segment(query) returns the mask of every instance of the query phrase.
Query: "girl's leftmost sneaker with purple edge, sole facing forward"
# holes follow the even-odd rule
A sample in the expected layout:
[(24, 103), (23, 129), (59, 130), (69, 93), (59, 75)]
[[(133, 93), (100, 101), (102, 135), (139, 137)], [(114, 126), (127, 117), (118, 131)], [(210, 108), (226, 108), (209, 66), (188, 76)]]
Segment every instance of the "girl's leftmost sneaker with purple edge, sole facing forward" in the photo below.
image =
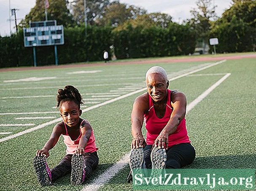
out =
[(46, 158), (35, 157), (33, 165), (35, 169), (35, 174), (41, 186), (51, 185), (51, 170), (47, 165)]

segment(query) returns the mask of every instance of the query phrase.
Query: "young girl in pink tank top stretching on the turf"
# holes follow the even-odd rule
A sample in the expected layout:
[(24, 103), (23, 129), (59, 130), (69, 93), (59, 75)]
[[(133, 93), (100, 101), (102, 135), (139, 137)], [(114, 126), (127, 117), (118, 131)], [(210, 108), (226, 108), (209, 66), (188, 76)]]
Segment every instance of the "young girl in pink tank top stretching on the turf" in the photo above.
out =
[[(80, 118), (82, 114), (80, 104), (83, 102), (78, 89), (73, 86), (59, 89), (57, 102), (63, 121), (53, 128), (50, 139), (36, 152), (35, 173), (41, 186), (51, 185), (52, 181), (70, 172), (71, 184), (80, 185), (91, 175), (99, 162), (95, 137), (90, 123)], [(49, 150), (55, 146), (61, 135), (67, 146), (67, 155), (59, 165), (50, 170), (46, 158), (49, 157)]]

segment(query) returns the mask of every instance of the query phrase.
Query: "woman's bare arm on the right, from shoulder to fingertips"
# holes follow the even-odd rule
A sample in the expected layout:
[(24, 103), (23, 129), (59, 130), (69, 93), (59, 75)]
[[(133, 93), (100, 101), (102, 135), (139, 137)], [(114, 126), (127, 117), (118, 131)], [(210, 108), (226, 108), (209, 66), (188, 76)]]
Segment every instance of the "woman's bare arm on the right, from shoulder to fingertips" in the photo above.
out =
[(181, 123), (181, 120), (185, 118), (186, 115), (186, 96), (181, 92), (172, 93), (172, 114), (167, 125), (163, 128), (162, 132), (156, 138), (155, 147), (167, 148), (168, 146), (168, 136), (174, 133)]

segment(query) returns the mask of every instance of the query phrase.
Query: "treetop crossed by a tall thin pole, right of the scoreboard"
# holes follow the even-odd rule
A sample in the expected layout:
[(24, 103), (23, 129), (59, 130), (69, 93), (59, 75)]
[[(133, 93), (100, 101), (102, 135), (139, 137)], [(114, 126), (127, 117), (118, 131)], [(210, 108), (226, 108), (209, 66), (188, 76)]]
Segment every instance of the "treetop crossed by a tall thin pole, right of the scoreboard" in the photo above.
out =
[[(109, 4), (109, 0), (86, 0), (87, 23), (91, 26), (94, 25), (95, 20), (102, 16), (105, 7)], [(84, 0), (76, 0), (71, 9), (75, 22), (78, 25), (84, 24)]]

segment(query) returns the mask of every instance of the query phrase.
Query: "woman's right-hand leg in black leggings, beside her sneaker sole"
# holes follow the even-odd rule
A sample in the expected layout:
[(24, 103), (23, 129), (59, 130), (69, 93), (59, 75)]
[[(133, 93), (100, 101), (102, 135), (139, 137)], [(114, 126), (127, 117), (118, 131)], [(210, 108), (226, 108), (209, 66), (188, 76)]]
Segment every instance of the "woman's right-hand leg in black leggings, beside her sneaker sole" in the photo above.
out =
[(177, 144), (167, 149), (166, 168), (181, 168), (194, 161), (196, 152), (189, 143)]

